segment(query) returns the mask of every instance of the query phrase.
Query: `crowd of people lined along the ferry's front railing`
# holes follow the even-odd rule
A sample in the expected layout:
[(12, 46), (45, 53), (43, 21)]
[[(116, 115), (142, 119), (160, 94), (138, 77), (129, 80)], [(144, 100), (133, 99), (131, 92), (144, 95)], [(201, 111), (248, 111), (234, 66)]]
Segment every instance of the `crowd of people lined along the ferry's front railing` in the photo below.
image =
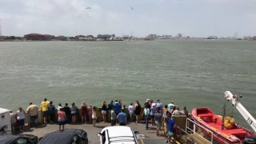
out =
[[(163, 106), (160, 100), (157, 100), (157, 102), (154, 103), (152, 99), (147, 99), (143, 107), (144, 110), (141, 114), (142, 106), (138, 101), (136, 101), (135, 104), (130, 102), (129, 106), (122, 105), (121, 100), (115, 100), (115, 102), (111, 101), (109, 104), (107, 104), (106, 101), (103, 101), (101, 107), (102, 121), (106, 122), (108, 116), (111, 126), (115, 126), (117, 123), (119, 126), (126, 126), (127, 118), (130, 122), (138, 123), (140, 117), (142, 117), (146, 123), (146, 130), (149, 130), (150, 123), (151, 126), (156, 126), (156, 134), (158, 135), (159, 130), (163, 127), (164, 136), (166, 142), (168, 142), (171, 141), (170, 138), (173, 137), (175, 126), (174, 116), (185, 114), (186, 117), (188, 117), (186, 106), (180, 111), (178, 106), (174, 106), (174, 101)], [(30, 106), (27, 107), (26, 111), (20, 107), (18, 111), (11, 116), (12, 125), (16, 122), (14, 122), (14, 118), (17, 118), (20, 130), (23, 130), (25, 115), (28, 114), (30, 116), (30, 126), (34, 126), (35, 120), (38, 118), (38, 109), (38, 106), (34, 105), (32, 102), (30, 102)], [(81, 115), (82, 123), (93, 122), (93, 126), (96, 126), (98, 108), (92, 105), (87, 106), (86, 102), (83, 101), (80, 109), (81, 113), (79, 113), (78, 106), (75, 106), (74, 102), (71, 106), (68, 106), (67, 103), (65, 106), (58, 103), (58, 107), (56, 108), (54, 103), (52, 101), (49, 102), (46, 98), (42, 101), (40, 106), (45, 126), (49, 122), (48, 117), (50, 117), (50, 123), (54, 123), (56, 118), (55, 110), (58, 110), (57, 120), (59, 130), (64, 130), (64, 125), (66, 123), (74, 124), (77, 122), (78, 114)], [(162, 123), (164, 126), (162, 126)], [(14, 131), (14, 129), (12, 130)]]

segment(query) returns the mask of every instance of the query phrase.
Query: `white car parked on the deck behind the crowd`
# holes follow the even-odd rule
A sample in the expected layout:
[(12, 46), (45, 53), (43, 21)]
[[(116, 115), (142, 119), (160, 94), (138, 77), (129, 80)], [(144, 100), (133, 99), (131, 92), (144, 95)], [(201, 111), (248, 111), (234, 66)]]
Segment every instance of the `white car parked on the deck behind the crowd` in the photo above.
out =
[(98, 136), (101, 144), (138, 144), (137, 139), (143, 138), (142, 134), (129, 126), (109, 126), (98, 133)]

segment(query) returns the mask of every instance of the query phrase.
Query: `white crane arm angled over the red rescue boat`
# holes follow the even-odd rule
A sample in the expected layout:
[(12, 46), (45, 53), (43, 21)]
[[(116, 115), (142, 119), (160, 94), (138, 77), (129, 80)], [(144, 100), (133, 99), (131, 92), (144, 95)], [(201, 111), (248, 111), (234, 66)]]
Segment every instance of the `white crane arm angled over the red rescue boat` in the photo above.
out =
[(230, 101), (232, 103), (232, 106), (234, 106), (240, 114), (242, 114), (242, 117), (246, 119), (246, 122), (249, 123), (249, 125), (252, 127), (254, 132), (256, 132), (256, 120), (254, 117), (246, 110), (244, 106), (240, 102), (238, 102), (239, 98), (242, 98), (242, 95), (233, 95), (230, 91), (226, 91), (225, 98), (227, 101)]

